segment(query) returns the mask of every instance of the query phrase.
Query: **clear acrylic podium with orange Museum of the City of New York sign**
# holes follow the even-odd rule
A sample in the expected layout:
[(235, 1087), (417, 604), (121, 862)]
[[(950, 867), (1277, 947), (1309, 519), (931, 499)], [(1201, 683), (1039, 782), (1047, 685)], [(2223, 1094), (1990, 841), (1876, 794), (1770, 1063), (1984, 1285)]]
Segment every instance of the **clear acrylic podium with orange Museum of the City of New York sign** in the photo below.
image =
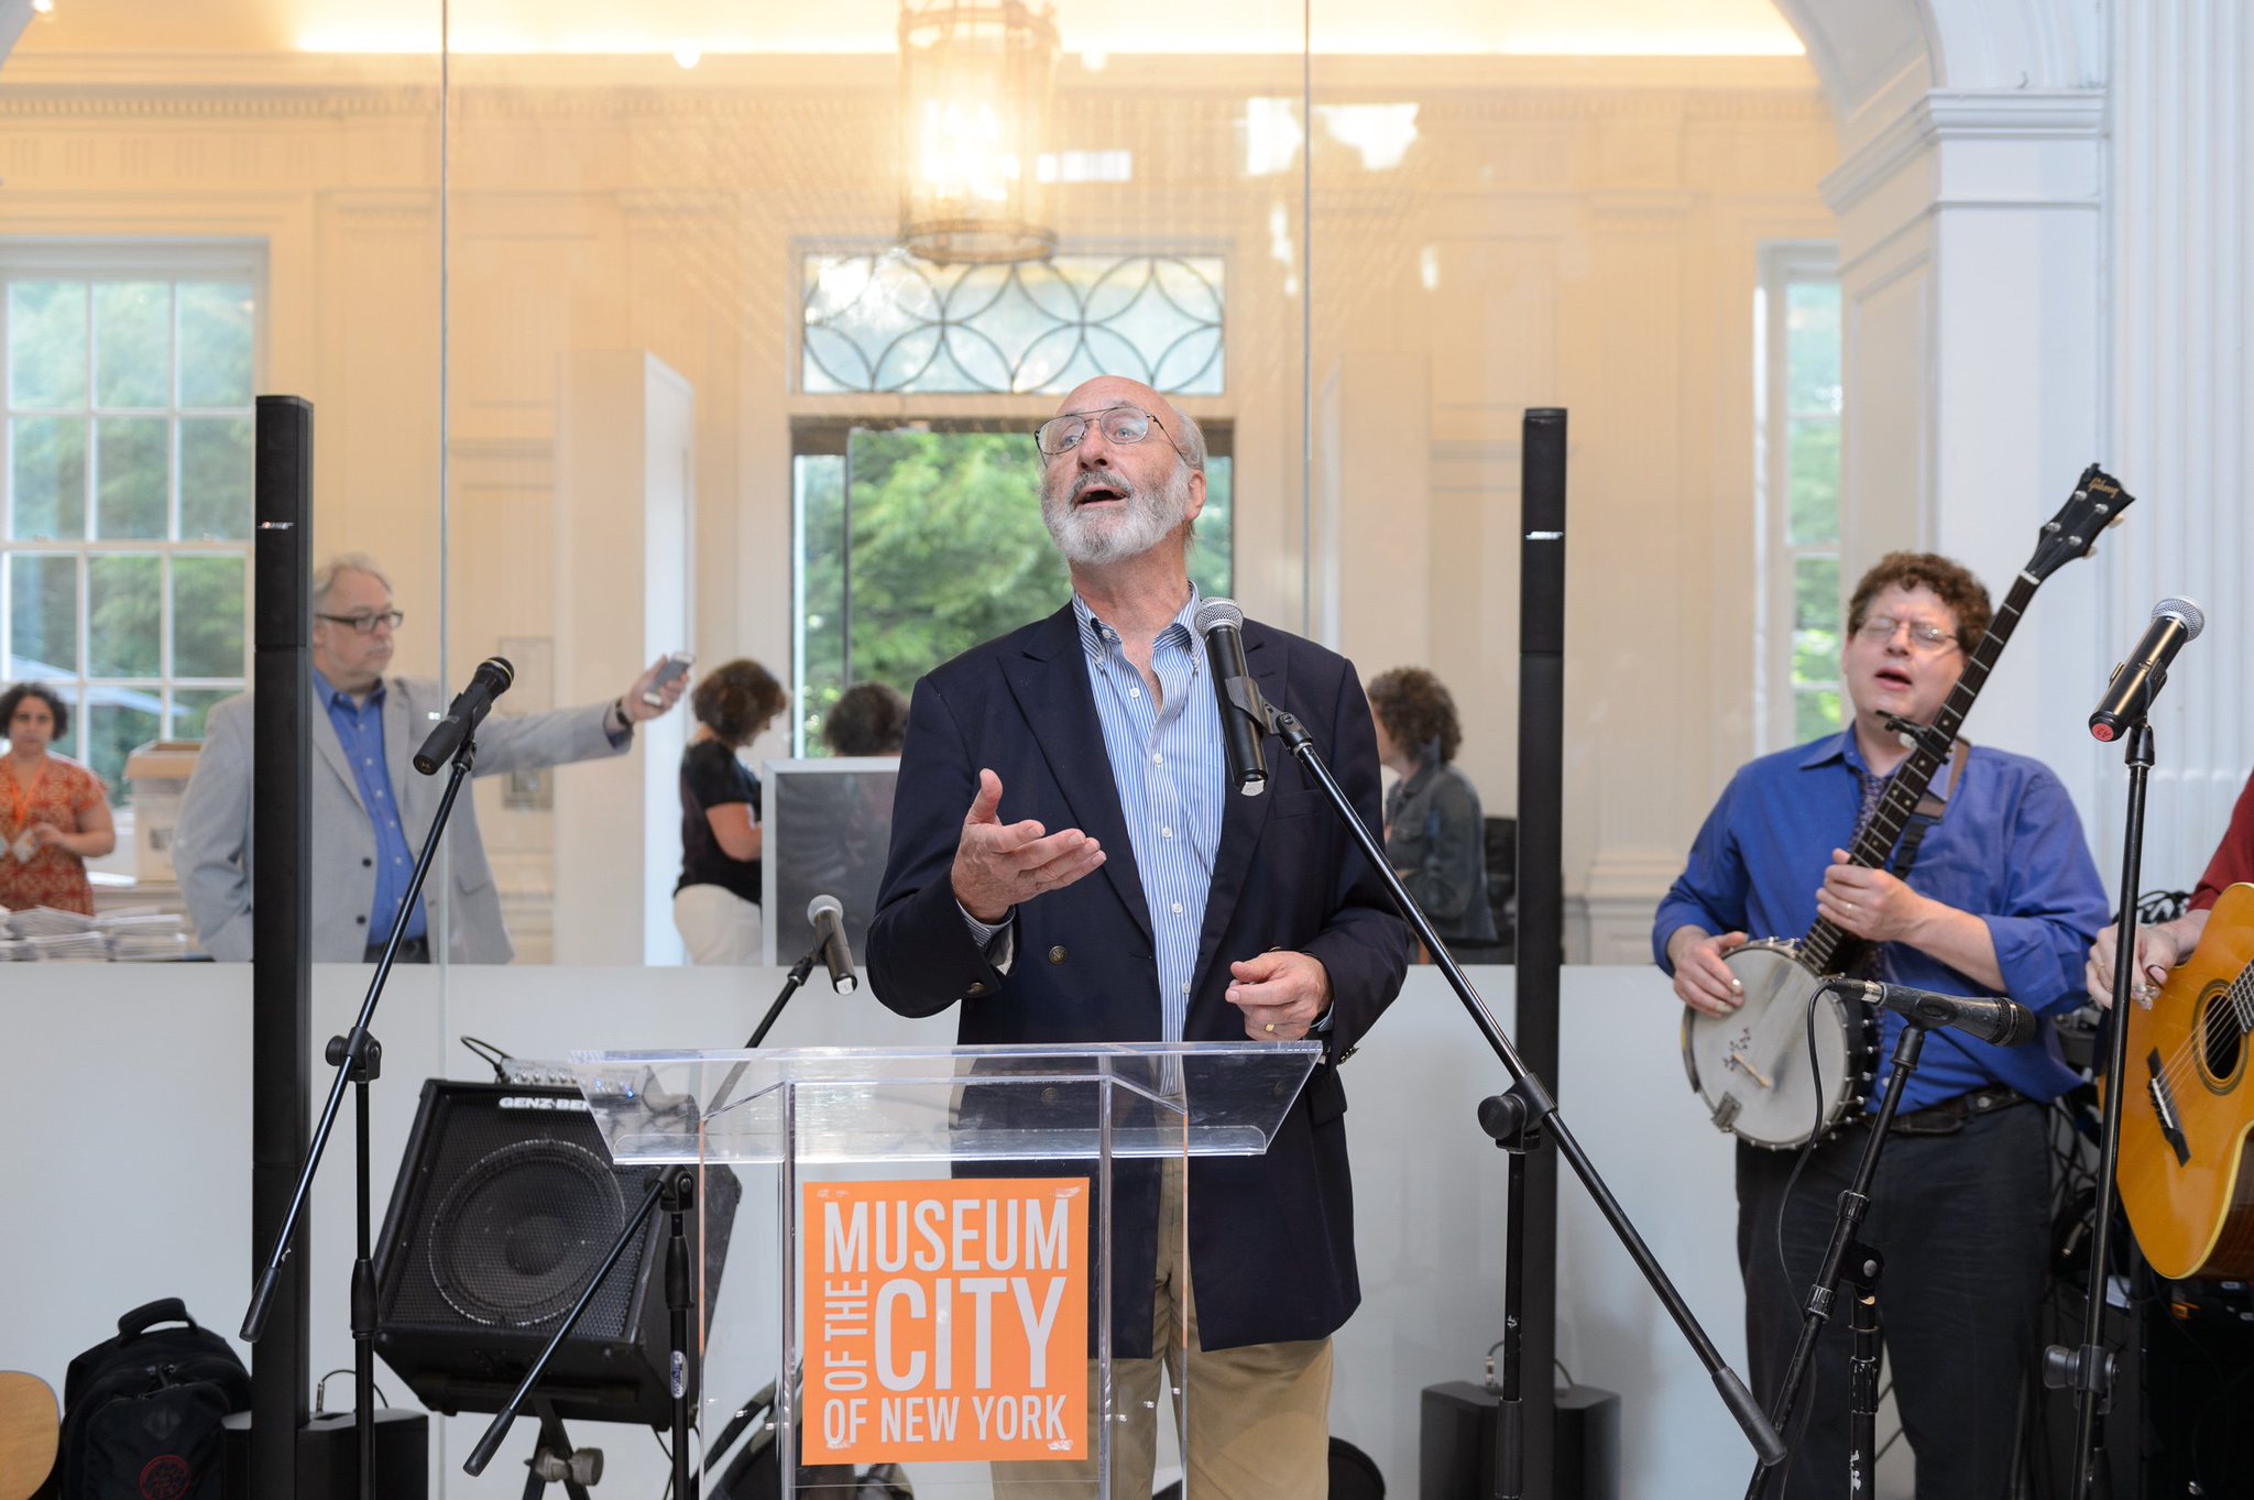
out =
[[(1186, 1223), (1186, 1160), (1264, 1153), (1319, 1056), (1251, 1041), (582, 1052), (573, 1072), (622, 1167), (744, 1178), (733, 1227), (706, 1223), (730, 1236), (726, 1277), (699, 1295), (706, 1441), (771, 1387), (742, 1453), (784, 1475), (782, 1495), (843, 1500), (897, 1464), (917, 1500), (1109, 1500), (1118, 1435), (1161, 1405), (1179, 1435), (1195, 1405), (1188, 1381), (1113, 1381), (1113, 1248), (1150, 1270), (1138, 1245)], [(1181, 1320), (1159, 1340), (1179, 1349)]]

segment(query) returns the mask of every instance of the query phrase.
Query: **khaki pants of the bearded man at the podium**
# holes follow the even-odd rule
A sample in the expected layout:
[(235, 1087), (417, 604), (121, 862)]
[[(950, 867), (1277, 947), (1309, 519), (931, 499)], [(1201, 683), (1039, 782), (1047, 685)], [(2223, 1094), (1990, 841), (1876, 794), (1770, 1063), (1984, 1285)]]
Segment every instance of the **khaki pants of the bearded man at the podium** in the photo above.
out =
[[(1278, 1268), (1292, 1275), (1292, 1268)], [(1159, 1403), (1183, 1387), (1183, 1500), (1316, 1500), (1330, 1493), (1330, 1340), (1208, 1354), (1181, 1225), (1181, 1162), (1159, 1194), (1159, 1288), (1147, 1360), (1111, 1360), (1111, 1500), (1147, 1500), (1159, 1455)], [(1102, 1403), (1089, 1365), (1089, 1457), (994, 1464), (996, 1500), (1093, 1500)]]

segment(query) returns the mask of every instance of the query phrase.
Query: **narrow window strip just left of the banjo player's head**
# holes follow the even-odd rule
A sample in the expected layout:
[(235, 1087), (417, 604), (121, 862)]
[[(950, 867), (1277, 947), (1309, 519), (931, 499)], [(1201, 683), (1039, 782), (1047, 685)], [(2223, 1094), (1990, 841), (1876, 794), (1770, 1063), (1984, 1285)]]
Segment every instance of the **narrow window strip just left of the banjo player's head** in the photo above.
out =
[(1756, 723), (1760, 745), (1842, 725), (1839, 273), (1830, 245), (1769, 245), (1754, 304)]

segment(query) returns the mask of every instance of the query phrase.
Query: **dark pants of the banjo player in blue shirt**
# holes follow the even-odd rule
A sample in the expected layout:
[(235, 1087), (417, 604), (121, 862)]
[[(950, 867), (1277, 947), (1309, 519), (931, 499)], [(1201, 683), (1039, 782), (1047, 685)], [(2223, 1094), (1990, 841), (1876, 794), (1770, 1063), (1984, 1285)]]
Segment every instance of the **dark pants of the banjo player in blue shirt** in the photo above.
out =
[[(1918, 1457), (1918, 1500), (2002, 1500), (2035, 1360), (2035, 1304), (2049, 1252), (2047, 1110), (1977, 1115), (1954, 1135), (1889, 1135), (1871, 1185), (1864, 1243), (1887, 1259), (1880, 1338), (1902, 1435)], [(1792, 1363), (1808, 1284), (1823, 1259), (1839, 1194), (1855, 1180), (1866, 1126), (1817, 1146), (1790, 1203), (1796, 1151), (1738, 1146), (1738, 1268), (1745, 1340), (1763, 1410)], [(1776, 1216), (1785, 1209), (1785, 1257)], [(1817, 1340), (1794, 1421), (1787, 1500), (1846, 1495), (1846, 1293)], [(1772, 1493), (1776, 1493), (1772, 1489)]]

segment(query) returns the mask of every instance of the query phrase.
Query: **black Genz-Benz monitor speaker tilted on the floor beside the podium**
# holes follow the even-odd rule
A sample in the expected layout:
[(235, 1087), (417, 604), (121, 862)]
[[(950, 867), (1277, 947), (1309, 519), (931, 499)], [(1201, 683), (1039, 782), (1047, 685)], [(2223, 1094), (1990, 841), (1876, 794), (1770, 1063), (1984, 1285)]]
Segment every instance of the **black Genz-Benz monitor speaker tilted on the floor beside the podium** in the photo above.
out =
[[(376, 1252), (376, 1354), (431, 1410), (498, 1412), (658, 1171), (613, 1164), (577, 1090), (426, 1081)], [(706, 1300), (739, 1196), (726, 1167), (703, 1173)], [(665, 1234), (651, 1212), (557, 1349), (534, 1392), (557, 1417), (672, 1421)], [(690, 1401), (694, 1381), (690, 1358)]]

